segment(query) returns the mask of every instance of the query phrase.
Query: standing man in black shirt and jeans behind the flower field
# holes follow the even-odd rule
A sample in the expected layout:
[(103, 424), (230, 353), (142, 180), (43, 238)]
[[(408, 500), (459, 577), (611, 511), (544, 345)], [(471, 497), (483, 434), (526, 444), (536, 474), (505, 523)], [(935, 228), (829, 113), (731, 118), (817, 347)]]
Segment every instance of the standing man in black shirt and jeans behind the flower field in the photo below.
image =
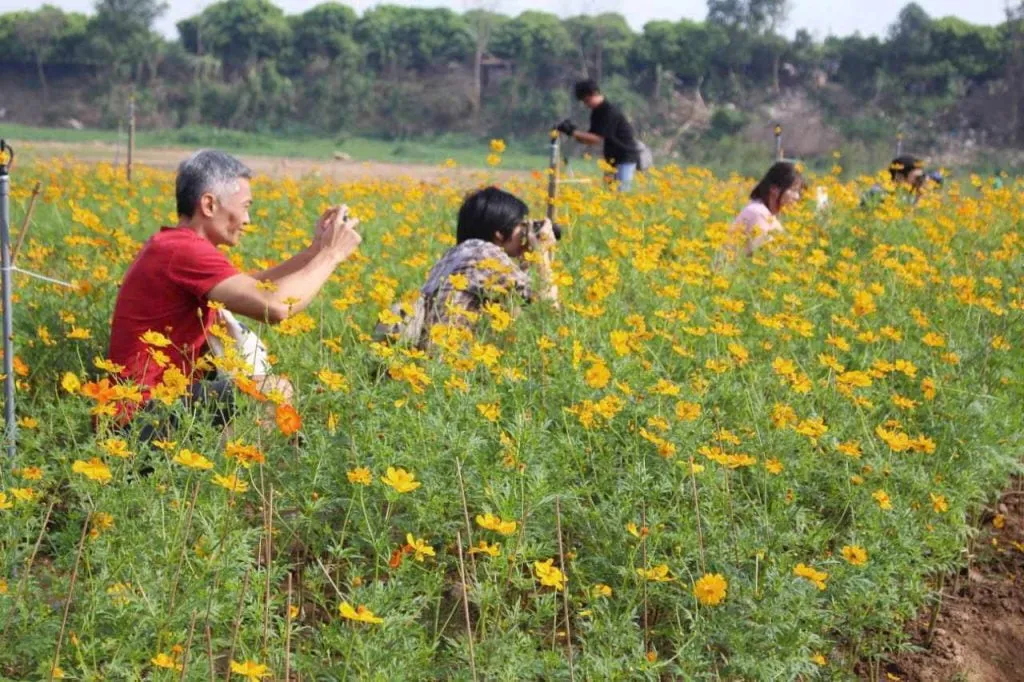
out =
[(622, 110), (601, 94), (601, 89), (594, 81), (578, 82), (575, 96), (590, 110), (590, 130), (579, 130), (568, 119), (559, 123), (556, 130), (584, 144), (601, 144), (604, 147), (604, 160), (615, 169), (614, 179), (618, 182), (618, 189), (629, 189), (640, 161), (633, 126), (626, 120)]

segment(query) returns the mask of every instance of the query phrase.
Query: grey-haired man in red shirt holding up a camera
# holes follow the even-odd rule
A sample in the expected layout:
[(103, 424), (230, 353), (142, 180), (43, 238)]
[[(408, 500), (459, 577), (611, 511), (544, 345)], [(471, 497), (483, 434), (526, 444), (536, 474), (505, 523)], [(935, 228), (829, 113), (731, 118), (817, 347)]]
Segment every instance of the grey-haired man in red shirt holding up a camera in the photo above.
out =
[[(182, 162), (175, 187), (178, 224), (161, 227), (125, 272), (108, 356), (124, 366), (122, 375), (139, 385), (143, 400), (165, 373), (176, 368), (189, 384), (186, 400), (214, 397), (229, 402), (229, 384), (204, 382), (196, 372), (217, 314), (210, 303), (280, 323), (309, 305), (359, 245), (354, 229), (358, 221), (348, 217), (345, 207), (334, 207), (321, 216), (310, 247), (262, 272), (239, 272), (218, 247), (236, 246), (249, 224), (251, 176), (238, 159), (213, 150)], [(253, 379), (264, 390), (291, 395), (291, 385), (283, 378)], [(130, 419), (135, 408), (122, 406), (122, 421)]]

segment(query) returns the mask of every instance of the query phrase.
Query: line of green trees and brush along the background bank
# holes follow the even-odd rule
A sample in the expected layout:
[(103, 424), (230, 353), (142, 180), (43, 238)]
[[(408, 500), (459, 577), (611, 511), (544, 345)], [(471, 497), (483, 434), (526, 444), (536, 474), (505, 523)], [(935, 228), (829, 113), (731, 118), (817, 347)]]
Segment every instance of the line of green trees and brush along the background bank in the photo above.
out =
[[(159, 0), (98, 0), (88, 15), (43, 5), (0, 14), (0, 62), (33, 65), (44, 101), (54, 66), (92, 65), (96, 102), (131, 87), (140, 113), (166, 126), (391, 137), (543, 129), (568, 114), (581, 77), (653, 131), (671, 124), (680, 94), (742, 106), (827, 85), (880, 111), (933, 116), (979, 88), (1012, 90), (1017, 108), (1024, 84), (1024, 2), (999, 26), (935, 18), (910, 3), (885, 37), (820, 41), (782, 33), (787, 0), (708, 0), (702, 22), (653, 20), (640, 32), (615, 13), (508, 16), (494, 6), (379, 5), (360, 15), (325, 2), (286, 14), (269, 0), (222, 0), (166, 40), (154, 31), (167, 8)], [(728, 132), (738, 122), (723, 114), (715, 125)]]

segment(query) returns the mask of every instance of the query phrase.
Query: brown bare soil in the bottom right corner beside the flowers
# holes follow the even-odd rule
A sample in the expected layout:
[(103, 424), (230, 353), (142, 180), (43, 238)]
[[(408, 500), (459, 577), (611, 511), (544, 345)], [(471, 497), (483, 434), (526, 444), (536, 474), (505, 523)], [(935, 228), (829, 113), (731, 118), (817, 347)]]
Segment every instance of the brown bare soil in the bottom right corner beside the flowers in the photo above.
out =
[(931, 647), (925, 612), (910, 626), (925, 650), (897, 656), (883, 680), (1024, 681), (1024, 480), (983, 523), (970, 568), (945, 581)]

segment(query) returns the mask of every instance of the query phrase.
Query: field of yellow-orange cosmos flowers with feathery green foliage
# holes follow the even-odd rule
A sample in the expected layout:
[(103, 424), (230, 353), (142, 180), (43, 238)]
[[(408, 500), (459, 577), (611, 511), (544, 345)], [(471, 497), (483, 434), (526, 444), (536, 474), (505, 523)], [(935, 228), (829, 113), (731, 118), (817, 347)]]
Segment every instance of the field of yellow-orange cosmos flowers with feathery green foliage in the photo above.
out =
[[(488, 307), (425, 355), (370, 335), (464, 187), (258, 178), (240, 267), (337, 203), (362, 245), (258, 328), (294, 410), (240, 381), (228, 438), (184, 415), (151, 447), (111, 430), (137, 389), (102, 358), (173, 175), (18, 168), (15, 219), (37, 179), (17, 264), (76, 291), (15, 275), (0, 679), (849, 679), (1019, 470), (1020, 183), (863, 209), (874, 178), (813, 178), (829, 207), (741, 262), (749, 179), (570, 185), (561, 308)], [(545, 181), (506, 188), (540, 215)]]

